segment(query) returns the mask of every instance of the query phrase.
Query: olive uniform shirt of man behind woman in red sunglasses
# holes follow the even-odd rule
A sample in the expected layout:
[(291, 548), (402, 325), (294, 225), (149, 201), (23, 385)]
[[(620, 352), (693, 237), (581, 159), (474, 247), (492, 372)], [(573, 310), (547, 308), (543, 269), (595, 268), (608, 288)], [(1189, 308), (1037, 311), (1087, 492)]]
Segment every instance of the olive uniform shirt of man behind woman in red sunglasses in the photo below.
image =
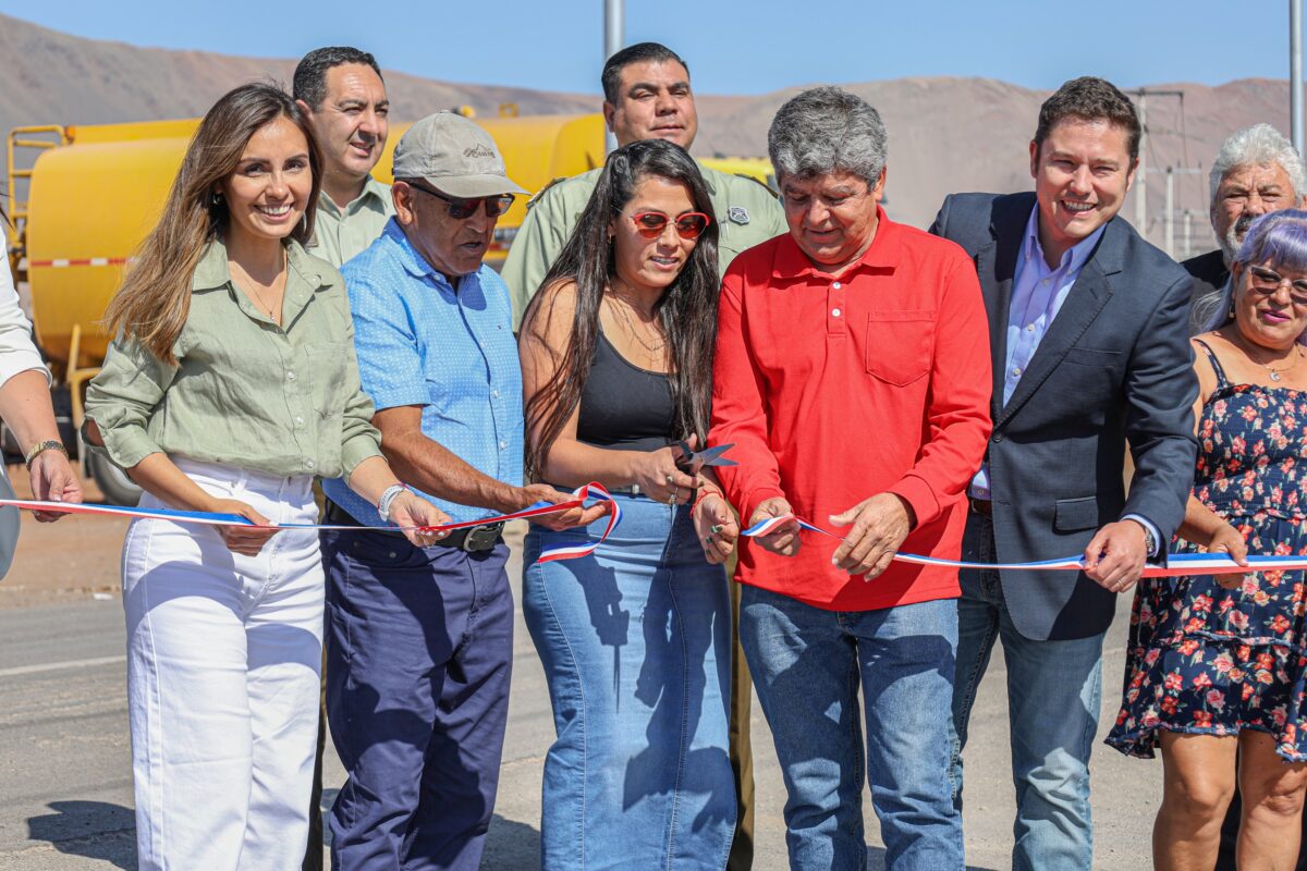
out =
[[(725, 274), (736, 255), (788, 231), (780, 200), (765, 184), (699, 165), (718, 221), (718, 269)], [(576, 227), (603, 168), (555, 182), (536, 195), (503, 264), (512, 296), (512, 329), (521, 326), (527, 303)]]

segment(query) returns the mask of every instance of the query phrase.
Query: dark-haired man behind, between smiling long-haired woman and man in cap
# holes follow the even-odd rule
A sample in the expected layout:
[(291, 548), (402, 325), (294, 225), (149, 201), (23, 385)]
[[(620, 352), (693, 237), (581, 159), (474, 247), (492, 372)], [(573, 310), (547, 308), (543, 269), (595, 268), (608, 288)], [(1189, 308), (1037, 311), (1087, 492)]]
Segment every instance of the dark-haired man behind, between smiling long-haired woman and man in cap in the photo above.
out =
[(389, 129), (386, 82), (366, 51), (315, 48), (295, 67), (294, 97), (323, 157), (316, 245), (310, 251), (341, 266), (372, 244), (395, 214), (389, 187), (371, 176)]

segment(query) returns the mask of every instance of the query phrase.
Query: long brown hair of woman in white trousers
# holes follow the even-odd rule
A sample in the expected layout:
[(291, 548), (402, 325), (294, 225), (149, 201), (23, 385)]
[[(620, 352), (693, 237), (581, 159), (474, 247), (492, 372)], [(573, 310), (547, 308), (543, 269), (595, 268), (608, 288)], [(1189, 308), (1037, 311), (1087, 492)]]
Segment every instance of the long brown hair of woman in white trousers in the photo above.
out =
[(305, 219), (290, 234), (295, 242), (308, 243), (322, 188), (322, 159), (308, 119), (276, 85), (255, 82), (230, 90), (200, 121), (159, 222), (141, 243), (122, 290), (105, 311), (110, 334), (122, 329), (159, 360), (176, 362), (173, 345), (191, 312), (195, 268), (230, 221), (226, 200), (214, 197), (213, 188), (235, 172), (251, 137), (278, 118), (290, 119), (308, 142), (314, 183)]

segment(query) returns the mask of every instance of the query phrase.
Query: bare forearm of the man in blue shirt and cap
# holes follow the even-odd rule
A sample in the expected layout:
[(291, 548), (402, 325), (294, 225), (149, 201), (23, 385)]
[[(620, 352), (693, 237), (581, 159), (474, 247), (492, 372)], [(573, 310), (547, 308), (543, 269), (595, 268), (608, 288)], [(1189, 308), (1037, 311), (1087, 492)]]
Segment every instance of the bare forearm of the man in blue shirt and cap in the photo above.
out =
[(478, 471), (423, 435), (387, 437), (383, 431), (382, 453), (400, 481), (438, 499), (501, 513), (523, 507), (520, 488)]

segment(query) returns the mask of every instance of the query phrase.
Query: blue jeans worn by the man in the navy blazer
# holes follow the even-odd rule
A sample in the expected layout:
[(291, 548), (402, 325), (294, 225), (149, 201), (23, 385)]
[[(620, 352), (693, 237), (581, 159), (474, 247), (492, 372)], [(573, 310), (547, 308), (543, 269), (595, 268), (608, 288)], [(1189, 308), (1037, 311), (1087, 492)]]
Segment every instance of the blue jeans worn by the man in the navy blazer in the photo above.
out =
[[(993, 563), (993, 521), (971, 515), (962, 559)], [(953, 695), (954, 802), (962, 810), (962, 748), (976, 688), (996, 640), (1008, 666), (1014, 871), (1089, 871), (1094, 831), (1089, 753), (1103, 691), (1103, 636), (1034, 641), (1012, 623), (999, 572), (962, 569), (958, 679)]]

